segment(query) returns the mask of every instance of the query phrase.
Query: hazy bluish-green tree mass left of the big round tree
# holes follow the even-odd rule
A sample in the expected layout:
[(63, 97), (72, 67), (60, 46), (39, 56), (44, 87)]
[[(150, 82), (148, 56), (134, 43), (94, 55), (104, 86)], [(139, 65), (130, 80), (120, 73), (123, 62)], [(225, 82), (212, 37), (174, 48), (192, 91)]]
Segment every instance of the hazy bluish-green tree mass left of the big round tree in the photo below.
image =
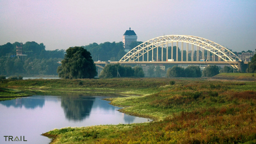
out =
[(57, 75), (65, 50), (46, 51), (43, 43), (26, 42), (22, 46), (26, 56), (16, 56), (16, 46), (21, 43), (0, 46), (0, 75)]

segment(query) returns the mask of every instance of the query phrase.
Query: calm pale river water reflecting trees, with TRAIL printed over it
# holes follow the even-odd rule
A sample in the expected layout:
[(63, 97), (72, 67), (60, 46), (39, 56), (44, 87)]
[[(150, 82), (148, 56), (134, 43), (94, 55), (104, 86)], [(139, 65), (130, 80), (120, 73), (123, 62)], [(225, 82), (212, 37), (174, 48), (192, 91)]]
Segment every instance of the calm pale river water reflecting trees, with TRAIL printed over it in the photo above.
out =
[[(0, 102), (0, 143), (50, 143), (42, 133), (63, 127), (141, 123), (105, 96), (31, 96)], [(13, 140), (13, 141), (12, 141)]]

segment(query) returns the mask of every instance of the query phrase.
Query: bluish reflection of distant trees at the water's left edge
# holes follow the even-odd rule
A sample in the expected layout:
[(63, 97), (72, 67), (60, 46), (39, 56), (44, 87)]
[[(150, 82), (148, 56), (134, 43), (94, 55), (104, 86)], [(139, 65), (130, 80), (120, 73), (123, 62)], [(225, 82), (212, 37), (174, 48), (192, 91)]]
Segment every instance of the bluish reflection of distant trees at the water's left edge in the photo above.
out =
[(36, 107), (43, 107), (45, 105), (44, 98), (16, 98), (15, 100), (10, 101), (2, 101), (2, 105), (10, 107), (13, 106), (15, 108), (24, 106), (25, 108), (34, 109)]

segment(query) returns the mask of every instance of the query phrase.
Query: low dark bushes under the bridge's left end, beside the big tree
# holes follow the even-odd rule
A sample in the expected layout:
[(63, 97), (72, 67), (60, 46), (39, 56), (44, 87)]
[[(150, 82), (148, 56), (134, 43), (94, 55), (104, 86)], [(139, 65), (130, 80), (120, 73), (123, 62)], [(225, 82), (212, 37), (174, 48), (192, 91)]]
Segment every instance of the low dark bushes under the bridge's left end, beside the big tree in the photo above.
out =
[(100, 77), (144, 77), (144, 72), (139, 66), (132, 68), (131, 66), (121, 66), (119, 63), (108, 64), (100, 73)]

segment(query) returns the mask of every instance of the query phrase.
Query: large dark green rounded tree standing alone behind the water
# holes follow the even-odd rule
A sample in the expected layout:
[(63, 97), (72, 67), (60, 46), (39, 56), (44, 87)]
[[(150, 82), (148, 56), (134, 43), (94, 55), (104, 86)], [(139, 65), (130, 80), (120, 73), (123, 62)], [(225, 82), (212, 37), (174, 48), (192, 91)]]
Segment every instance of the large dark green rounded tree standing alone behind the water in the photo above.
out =
[(57, 68), (61, 78), (93, 78), (97, 75), (91, 53), (82, 47), (68, 48), (61, 63)]

